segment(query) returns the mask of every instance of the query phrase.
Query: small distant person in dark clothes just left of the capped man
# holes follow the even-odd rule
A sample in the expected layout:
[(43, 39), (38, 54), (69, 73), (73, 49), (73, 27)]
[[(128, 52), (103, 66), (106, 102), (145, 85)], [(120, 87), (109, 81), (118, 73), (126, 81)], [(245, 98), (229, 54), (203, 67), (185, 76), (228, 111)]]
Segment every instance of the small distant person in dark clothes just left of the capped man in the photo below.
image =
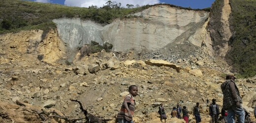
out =
[(219, 118), (219, 105), (216, 104), (216, 99), (212, 99), (212, 103), (210, 104), (209, 111), (210, 111), (210, 116), (212, 117), (212, 123), (217, 123), (218, 118)]

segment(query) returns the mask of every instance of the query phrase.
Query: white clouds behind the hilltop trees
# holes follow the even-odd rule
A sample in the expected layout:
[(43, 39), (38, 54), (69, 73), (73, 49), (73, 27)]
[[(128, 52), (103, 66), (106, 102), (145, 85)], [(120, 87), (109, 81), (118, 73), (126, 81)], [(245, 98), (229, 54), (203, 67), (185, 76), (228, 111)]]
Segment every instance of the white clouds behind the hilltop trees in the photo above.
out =
[[(68, 6), (78, 6), (78, 7), (89, 7), (91, 5), (96, 5), (98, 7), (102, 7), (106, 5), (108, 0), (65, 0), (64, 4)], [(111, 0), (116, 1), (117, 3), (121, 3), (123, 7), (126, 7), (126, 4), (136, 4), (138, 5), (146, 5), (146, 4), (156, 4), (160, 3), (160, 0)]]

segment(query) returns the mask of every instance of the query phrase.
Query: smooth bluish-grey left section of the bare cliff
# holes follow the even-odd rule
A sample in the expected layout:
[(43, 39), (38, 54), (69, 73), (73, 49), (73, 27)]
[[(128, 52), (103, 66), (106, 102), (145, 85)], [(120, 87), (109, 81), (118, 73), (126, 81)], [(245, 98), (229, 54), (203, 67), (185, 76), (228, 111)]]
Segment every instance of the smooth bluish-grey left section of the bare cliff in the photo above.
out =
[(57, 24), (60, 37), (71, 49), (82, 47), (91, 41), (97, 41), (102, 44), (103, 28), (91, 21), (82, 21), (80, 19), (58, 19), (53, 20)]

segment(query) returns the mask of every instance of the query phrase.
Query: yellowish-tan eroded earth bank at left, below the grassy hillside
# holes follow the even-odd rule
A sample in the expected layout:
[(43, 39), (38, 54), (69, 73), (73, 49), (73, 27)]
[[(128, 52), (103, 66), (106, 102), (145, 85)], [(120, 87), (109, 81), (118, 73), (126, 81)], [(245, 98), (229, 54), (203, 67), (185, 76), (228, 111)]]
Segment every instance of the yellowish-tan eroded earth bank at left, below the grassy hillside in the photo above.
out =
[(18, 33), (0, 35), (1, 54), (12, 54), (11, 59), (17, 59), (20, 65), (25, 62), (34, 63), (42, 60), (48, 63), (55, 63), (65, 55), (65, 46), (57, 35), (56, 31), (49, 31), (42, 39), (43, 31), (31, 30)]

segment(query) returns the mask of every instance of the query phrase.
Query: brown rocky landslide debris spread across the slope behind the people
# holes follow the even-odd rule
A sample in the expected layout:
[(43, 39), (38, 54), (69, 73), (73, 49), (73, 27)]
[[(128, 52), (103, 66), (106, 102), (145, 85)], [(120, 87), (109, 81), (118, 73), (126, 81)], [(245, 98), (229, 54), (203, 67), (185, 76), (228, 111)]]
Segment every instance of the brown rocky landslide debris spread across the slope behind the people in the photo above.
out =
[[(194, 123), (192, 107), (199, 102), (202, 123), (209, 123), (206, 99), (216, 98), (222, 105), (220, 85), (230, 67), (224, 61), (206, 55), (200, 47), (170, 44), (159, 51), (101, 51), (83, 58), (77, 52), (73, 63), (66, 65), (69, 64), (65, 62), (68, 56), (65, 56), (64, 44), (56, 32), (50, 31), (44, 39), (41, 39), (41, 33), (21, 31), (0, 35), (1, 123), (42, 122), (37, 114), (31, 113), (32, 110), (55, 110), (69, 118), (83, 118), (78, 103), (70, 98), (81, 100), (88, 112), (112, 118), (108, 123), (114, 123), (123, 102), (120, 94), (127, 92), (129, 85), (139, 89), (135, 123), (143, 123), (142, 120), (159, 123), (160, 103), (165, 106), (167, 123), (181, 123), (170, 118), (171, 108), (177, 102), (188, 107), (191, 123)], [(150, 59), (172, 62), (175, 67), (166, 65), (169, 63), (146, 64), (145, 61)], [(246, 97), (243, 106), (252, 113), (251, 107), (256, 104), (256, 83), (248, 80), (238, 79), (237, 85)], [(26, 105), (17, 105), (16, 100), (26, 102)], [(50, 119), (46, 123), (57, 121)]]

